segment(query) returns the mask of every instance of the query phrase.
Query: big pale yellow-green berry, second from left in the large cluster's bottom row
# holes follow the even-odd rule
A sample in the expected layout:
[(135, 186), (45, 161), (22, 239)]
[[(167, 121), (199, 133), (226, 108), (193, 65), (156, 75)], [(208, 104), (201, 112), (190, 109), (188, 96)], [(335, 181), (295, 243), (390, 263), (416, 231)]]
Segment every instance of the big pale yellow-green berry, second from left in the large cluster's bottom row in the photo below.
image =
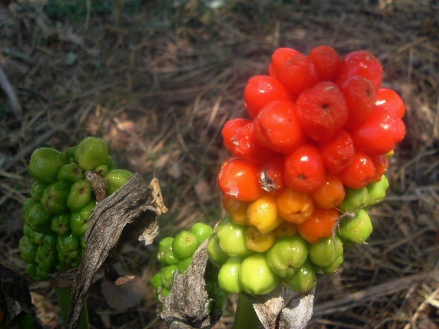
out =
[(257, 252), (242, 261), (239, 281), (245, 293), (265, 295), (276, 289), (279, 277), (268, 265), (265, 254)]

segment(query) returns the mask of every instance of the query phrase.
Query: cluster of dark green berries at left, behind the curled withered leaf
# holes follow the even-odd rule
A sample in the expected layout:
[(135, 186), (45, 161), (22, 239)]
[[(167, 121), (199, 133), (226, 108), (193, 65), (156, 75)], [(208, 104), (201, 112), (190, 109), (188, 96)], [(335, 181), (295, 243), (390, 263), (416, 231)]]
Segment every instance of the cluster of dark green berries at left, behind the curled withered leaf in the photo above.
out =
[(48, 280), (49, 273), (80, 265), (88, 219), (97, 204), (86, 172), (106, 180), (104, 197), (128, 182), (132, 173), (113, 169), (107, 143), (96, 137), (84, 138), (64, 153), (48, 147), (36, 149), (27, 169), (36, 182), (23, 205), (19, 250), (29, 276)]

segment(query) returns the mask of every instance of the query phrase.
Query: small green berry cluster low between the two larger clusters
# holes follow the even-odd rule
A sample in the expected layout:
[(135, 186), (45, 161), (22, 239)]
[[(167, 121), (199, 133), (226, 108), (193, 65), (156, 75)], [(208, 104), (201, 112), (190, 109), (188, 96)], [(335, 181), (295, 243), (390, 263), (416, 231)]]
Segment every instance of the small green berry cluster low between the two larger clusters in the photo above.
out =
[[(194, 252), (206, 239), (214, 233), (213, 228), (205, 223), (194, 223), (190, 230), (183, 230), (175, 237), (167, 236), (158, 245), (157, 258), (161, 263), (161, 271), (156, 273), (151, 283), (158, 295), (167, 296), (176, 273), (185, 273), (191, 265)], [(217, 304), (224, 303), (224, 291), (217, 282), (217, 270), (208, 264), (204, 275), (206, 291)]]

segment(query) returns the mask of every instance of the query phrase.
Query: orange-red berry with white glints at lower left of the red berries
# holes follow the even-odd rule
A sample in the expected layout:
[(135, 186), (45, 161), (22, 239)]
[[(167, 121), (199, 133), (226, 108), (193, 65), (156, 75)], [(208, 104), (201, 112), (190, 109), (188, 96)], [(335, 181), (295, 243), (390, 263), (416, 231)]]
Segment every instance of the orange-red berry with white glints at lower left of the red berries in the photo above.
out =
[(257, 167), (238, 158), (222, 164), (217, 175), (217, 185), (223, 195), (231, 199), (251, 202), (263, 194), (257, 177)]

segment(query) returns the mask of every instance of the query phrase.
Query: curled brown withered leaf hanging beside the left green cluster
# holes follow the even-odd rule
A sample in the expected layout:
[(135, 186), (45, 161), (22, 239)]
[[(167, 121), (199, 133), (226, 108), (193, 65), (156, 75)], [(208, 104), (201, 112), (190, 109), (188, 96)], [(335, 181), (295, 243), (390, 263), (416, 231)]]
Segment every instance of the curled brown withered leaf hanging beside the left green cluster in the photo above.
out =
[(152, 243), (158, 234), (156, 219), (166, 211), (158, 180), (154, 178), (148, 185), (139, 173), (95, 206), (85, 234), (84, 258), (73, 278), (68, 329), (78, 328), (82, 302), (97, 270), (105, 265), (117, 282), (112, 264), (123, 243), (133, 238)]

